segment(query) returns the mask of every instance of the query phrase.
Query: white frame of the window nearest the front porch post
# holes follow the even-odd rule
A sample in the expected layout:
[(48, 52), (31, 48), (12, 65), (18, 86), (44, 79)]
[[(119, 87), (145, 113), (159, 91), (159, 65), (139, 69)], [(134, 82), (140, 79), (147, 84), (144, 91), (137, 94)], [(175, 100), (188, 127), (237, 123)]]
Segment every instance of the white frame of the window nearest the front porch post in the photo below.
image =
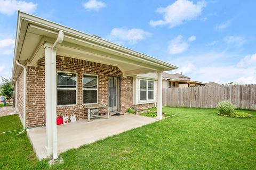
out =
[[(58, 88), (58, 73), (71, 73), (71, 74), (76, 74), (76, 88)], [(65, 107), (65, 106), (77, 106), (77, 91), (78, 91), (78, 74), (76, 72), (71, 72), (71, 71), (61, 71), (58, 70), (56, 72), (56, 77), (57, 77), (57, 83), (56, 83), (56, 99), (57, 99), (57, 107)], [(76, 90), (76, 104), (70, 104), (70, 105), (58, 105), (58, 90)]]

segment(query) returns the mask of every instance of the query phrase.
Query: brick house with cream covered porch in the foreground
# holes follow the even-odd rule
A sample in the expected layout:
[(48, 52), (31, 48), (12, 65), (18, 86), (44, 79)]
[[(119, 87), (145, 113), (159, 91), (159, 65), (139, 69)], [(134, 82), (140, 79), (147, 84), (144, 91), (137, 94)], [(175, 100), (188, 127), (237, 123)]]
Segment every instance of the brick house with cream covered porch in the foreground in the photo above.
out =
[[(155, 106), (162, 119), (163, 71), (177, 69), (96, 36), (18, 11), (12, 79), (23, 128), (46, 126), (47, 156), (58, 159), (58, 116), (84, 119), (88, 107), (125, 112)], [(139, 78), (155, 72), (157, 79)], [(156, 81), (158, 80), (158, 81)], [(156, 94), (158, 94), (156, 96)]]

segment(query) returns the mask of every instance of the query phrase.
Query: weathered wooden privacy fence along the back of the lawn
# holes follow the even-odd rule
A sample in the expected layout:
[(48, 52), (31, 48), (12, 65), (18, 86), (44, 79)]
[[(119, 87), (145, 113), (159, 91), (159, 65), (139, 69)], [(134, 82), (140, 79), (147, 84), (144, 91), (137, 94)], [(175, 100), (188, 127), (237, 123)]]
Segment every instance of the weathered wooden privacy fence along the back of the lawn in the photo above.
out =
[(256, 84), (163, 89), (163, 106), (215, 108), (223, 100), (256, 110)]

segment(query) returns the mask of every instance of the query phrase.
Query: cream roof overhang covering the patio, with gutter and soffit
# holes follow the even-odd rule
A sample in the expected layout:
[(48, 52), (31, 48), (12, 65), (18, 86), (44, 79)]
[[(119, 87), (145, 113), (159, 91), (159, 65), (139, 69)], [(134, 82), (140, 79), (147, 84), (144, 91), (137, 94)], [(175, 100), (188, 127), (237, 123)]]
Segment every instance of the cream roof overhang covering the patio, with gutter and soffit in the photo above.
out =
[(64, 39), (57, 49), (57, 55), (118, 66), (123, 76), (178, 68), (107, 40), (18, 11), (13, 79), (17, 79), (21, 72), (15, 60), (24, 65), (37, 66), (37, 61), (44, 57), (44, 43), (54, 43), (59, 31), (64, 32)]

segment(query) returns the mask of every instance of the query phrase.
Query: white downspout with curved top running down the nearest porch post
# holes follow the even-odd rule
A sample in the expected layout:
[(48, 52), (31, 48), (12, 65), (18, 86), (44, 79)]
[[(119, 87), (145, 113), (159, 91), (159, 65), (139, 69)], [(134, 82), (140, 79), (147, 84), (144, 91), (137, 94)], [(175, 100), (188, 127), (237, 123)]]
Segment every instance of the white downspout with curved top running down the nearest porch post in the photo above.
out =
[(51, 56), (51, 111), (52, 111), (52, 159), (58, 159), (58, 139), (57, 139), (57, 122), (56, 122), (56, 52), (58, 46), (62, 43), (64, 38), (64, 33), (59, 31), (58, 38), (52, 46), (52, 56)]

